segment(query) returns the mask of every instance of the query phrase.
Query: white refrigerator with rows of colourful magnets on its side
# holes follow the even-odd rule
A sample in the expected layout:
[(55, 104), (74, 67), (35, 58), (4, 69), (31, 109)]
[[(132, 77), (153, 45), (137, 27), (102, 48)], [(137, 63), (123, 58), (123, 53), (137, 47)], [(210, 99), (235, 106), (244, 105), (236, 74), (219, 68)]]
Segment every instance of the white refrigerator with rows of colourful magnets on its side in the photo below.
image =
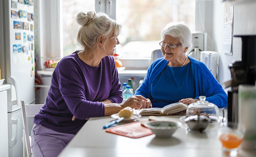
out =
[[(23, 156), (20, 99), (35, 103), (34, 0), (0, 1), (0, 69), (8, 98), (9, 157)], [(1, 115), (0, 115), (1, 116)]]

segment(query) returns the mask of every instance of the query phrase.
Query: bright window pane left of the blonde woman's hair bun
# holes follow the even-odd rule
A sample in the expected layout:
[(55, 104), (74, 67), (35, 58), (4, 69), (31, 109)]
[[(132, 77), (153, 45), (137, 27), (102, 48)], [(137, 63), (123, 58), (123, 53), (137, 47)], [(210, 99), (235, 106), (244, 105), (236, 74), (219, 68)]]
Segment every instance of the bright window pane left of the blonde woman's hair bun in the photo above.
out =
[(62, 0), (63, 56), (80, 49), (76, 36), (80, 25), (76, 22), (79, 12), (95, 11), (94, 0)]

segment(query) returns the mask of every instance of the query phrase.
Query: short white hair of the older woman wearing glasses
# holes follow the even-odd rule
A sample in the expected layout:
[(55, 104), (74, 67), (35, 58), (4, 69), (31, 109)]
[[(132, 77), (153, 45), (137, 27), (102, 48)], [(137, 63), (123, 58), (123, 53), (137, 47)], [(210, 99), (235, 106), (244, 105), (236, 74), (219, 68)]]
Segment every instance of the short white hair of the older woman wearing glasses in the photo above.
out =
[(183, 48), (190, 47), (192, 45), (192, 36), (189, 27), (184, 22), (171, 22), (168, 23), (162, 31), (162, 40), (164, 36), (170, 35), (174, 38), (178, 38)]

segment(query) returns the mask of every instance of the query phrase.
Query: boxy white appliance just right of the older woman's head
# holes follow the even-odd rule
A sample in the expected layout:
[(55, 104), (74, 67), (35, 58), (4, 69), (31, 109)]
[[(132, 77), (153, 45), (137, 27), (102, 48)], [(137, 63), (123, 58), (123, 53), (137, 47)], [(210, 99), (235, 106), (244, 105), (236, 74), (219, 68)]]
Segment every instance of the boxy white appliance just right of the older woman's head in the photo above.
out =
[(207, 34), (201, 31), (192, 32), (192, 48), (188, 55), (200, 60), (200, 53), (204, 50), (207, 50)]

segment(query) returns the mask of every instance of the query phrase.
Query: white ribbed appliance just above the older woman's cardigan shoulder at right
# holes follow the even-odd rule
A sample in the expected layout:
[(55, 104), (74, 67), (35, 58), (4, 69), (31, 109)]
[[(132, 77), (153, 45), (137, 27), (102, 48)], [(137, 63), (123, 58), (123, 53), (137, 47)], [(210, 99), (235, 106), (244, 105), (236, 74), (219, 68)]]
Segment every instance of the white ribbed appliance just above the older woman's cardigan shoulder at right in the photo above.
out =
[(202, 51), (200, 61), (206, 64), (212, 75), (217, 78), (217, 59), (218, 52), (215, 51)]

